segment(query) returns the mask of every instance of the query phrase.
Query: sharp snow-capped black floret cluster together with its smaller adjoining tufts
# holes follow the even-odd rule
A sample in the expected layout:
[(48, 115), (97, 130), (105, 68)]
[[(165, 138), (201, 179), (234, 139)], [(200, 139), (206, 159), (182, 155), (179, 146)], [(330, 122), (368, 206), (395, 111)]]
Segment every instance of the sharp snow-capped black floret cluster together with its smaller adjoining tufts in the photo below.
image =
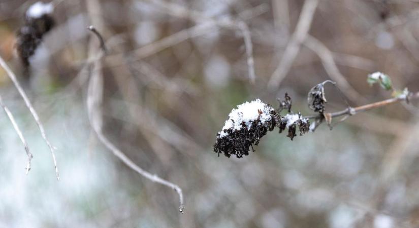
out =
[[(279, 103), (278, 111), (260, 99), (238, 105), (230, 112), (229, 119), (217, 134), (215, 153), (218, 156), (223, 153), (229, 158), (231, 155), (236, 155), (237, 158), (249, 155), (249, 147), (254, 151), (253, 145), (259, 144), (259, 140), (275, 127), (279, 128), (279, 133), (287, 128), (287, 136), (291, 140), (296, 136), (297, 127), (300, 135), (308, 132), (308, 119), (302, 118), (300, 113), (291, 113), (292, 102), (287, 94), (285, 100), (279, 100)], [(287, 109), (290, 113), (282, 117), (279, 115), (282, 109)]]

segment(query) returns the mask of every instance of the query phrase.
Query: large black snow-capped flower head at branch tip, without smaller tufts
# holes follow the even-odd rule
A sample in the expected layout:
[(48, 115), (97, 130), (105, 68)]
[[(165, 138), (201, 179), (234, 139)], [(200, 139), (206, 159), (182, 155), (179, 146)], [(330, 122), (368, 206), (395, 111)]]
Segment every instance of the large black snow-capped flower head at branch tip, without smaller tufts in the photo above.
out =
[(249, 147), (254, 151), (253, 145), (259, 144), (259, 140), (274, 129), (277, 119), (276, 110), (260, 99), (238, 105), (217, 134), (215, 153), (229, 158), (249, 155)]

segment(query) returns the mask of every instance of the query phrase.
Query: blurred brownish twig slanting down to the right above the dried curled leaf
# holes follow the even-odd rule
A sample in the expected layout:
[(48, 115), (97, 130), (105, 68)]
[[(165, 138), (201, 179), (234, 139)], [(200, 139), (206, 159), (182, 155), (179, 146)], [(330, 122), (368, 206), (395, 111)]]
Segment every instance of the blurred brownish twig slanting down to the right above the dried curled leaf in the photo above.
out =
[(354, 102), (365, 101), (365, 98), (362, 97), (355, 89), (353, 89), (342, 73), (339, 71), (335, 60), (333, 58), (332, 52), (320, 41), (315, 39), (311, 35), (307, 35), (304, 45), (309, 49), (314, 51), (318, 57), (321, 59), (321, 63), (326, 69), (326, 72), (329, 74), (329, 77), (336, 81), (339, 86), (342, 87), (342, 92)]

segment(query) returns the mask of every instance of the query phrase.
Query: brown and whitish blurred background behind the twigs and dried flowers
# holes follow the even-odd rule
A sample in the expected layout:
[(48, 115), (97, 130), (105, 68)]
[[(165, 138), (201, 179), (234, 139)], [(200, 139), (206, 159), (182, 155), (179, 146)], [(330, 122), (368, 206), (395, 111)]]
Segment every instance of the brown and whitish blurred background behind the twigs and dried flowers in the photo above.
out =
[[(0, 55), (18, 75), (15, 34), (35, 2), (0, 0)], [(310, 115), (307, 92), (328, 79), (352, 106), (390, 98), (367, 84), (375, 71), (390, 75), (396, 88), (419, 91), (419, 2), (320, 0), (279, 86), (270, 79), (289, 58), (284, 52), (304, 1), (54, 4), (56, 26), (30, 59), (30, 78), (20, 80), (57, 147), (61, 180), (0, 69), (0, 94), (34, 154), (25, 176), (24, 149), (4, 113), (0, 227), (419, 227), (415, 102), (360, 113), (332, 131), (322, 125), (293, 141), (275, 130), (242, 159), (212, 152), (231, 109), (254, 98), (277, 107), (276, 98), (287, 92), (293, 110)], [(109, 49), (105, 133), (140, 167), (182, 187), (184, 214), (174, 191), (127, 168), (91, 130), (88, 57), (99, 41), (86, 29), (90, 24)], [(332, 86), (326, 93), (327, 110), (346, 107)]]

